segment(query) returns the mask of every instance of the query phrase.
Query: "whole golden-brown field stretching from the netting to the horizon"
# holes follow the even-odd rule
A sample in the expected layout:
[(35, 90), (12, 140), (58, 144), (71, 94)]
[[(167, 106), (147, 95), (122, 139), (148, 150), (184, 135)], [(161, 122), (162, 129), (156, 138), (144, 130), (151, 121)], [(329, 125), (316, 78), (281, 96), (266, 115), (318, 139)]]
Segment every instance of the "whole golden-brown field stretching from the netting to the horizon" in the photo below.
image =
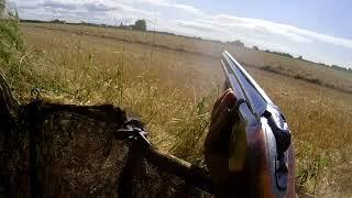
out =
[(199, 165), (209, 111), (222, 91), (220, 52), (227, 48), (250, 65), (249, 73), (287, 117), (299, 190), (317, 197), (352, 195), (352, 74), (218, 42), (146, 32), (30, 23), (22, 24), (21, 32), (37, 78), (21, 88), (10, 80), (20, 101), (28, 101), (35, 86), (47, 100), (113, 103), (142, 119), (160, 150)]

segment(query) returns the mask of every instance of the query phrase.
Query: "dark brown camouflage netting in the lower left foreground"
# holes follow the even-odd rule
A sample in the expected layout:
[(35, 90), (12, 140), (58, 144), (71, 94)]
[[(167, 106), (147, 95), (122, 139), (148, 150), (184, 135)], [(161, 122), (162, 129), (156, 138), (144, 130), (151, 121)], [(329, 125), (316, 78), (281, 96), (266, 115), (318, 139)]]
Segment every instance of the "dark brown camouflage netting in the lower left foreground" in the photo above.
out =
[(19, 106), (0, 78), (0, 197), (212, 197), (209, 175), (160, 153), (112, 106)]

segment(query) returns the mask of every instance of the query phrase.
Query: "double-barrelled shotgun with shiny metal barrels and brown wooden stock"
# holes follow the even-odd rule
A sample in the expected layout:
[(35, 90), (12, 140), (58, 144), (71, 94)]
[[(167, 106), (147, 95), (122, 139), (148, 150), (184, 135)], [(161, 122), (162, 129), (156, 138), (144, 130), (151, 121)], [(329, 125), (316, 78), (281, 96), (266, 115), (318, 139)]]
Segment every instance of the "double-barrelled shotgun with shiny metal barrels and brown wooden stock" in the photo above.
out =
[[(227, 51), (226, 88), (238, 98), (229, 146), (230, 193), (241, 197), (295, 197), (292, 135), (280, 109)], [(232, 187), (231, 187), (232, 186)]]

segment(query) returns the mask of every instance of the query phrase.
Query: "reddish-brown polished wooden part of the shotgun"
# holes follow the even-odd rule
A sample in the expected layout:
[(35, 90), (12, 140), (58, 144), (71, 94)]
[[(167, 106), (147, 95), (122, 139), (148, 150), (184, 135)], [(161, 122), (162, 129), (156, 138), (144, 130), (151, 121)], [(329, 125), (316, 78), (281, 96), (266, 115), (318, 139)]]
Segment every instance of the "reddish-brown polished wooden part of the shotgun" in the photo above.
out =
[(273, 175), (273, 167), (276, 166), (275, 151), (271, 151), (275, 143), (274, 135), (265, 129), (251, 128), (246, 130), (248, 138), (248, 162), (251, 162), (251, 169), (248, 169), (252, 178), (250, 179), (251, 188), (254, 194), (251, 197), (295, 197), (295, 173), (293, 147), (290, 146), (286, 153), (287, 187), (286, 189), (277, 189), (276, 178)]

